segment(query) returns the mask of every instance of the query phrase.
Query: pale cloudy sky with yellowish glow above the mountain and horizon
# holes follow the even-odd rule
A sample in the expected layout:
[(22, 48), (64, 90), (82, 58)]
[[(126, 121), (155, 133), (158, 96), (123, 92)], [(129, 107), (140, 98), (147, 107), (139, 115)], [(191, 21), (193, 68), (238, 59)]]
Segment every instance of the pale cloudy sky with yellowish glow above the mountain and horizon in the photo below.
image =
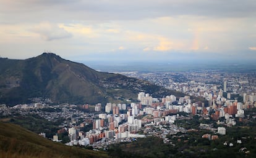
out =
[(0, 0), (0, 56), (256, 60), (255, 0)]

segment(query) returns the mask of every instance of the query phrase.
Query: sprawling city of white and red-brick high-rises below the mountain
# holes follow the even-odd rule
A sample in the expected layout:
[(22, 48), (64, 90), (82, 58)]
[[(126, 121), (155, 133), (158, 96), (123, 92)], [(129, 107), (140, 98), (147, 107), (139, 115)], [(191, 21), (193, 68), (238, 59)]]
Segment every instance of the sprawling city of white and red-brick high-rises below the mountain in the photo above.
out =
[[(53, 141), (94, 150), (109, 150), (111, 144), (151, 136), (174, 147), (181, 142), (221, 140), (220, 148), (237, 146), (237, 152), (245, 155), (252, 152), (250, 149), (255, 150), (244, 144), (249, 140), (255, 143), (255, 135), (251, 138), (242, 133), (234, 137), (229, 131), (234, 127), (255, 125), (256, 74), (218, 71), (119, 73), (187, 95), (154, 98), (140, 92), (137, 100), (105, 105), (53, 105), (49, 99), (33, 98), (35, 103), (29, 105), (1, 105), (0, 116), (15, 124), (30, 122), (27, 128)], [(205, 101), (192, 102), (191, 97), (202, 97)], [(200, 136), (192, 139), (190, 136), (194, 133)]]

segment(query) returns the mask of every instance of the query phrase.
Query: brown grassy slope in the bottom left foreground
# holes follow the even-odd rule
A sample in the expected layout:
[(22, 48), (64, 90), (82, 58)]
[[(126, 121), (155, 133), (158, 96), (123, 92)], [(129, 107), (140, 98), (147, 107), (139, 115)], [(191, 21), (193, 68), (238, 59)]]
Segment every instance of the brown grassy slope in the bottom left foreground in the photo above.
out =
[(0, 157), (108, 157), (106, 152), (91, 151), (54, 143), (18, 125), (0, 121)]

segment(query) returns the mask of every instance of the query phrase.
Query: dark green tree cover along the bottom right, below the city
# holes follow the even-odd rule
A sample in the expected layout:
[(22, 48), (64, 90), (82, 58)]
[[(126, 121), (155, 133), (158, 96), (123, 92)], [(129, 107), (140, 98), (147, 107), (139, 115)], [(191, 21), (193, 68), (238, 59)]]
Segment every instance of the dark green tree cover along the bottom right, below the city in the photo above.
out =
[[(186, 135), (178, 133), (176, 137), (169, 135), (172, 144), (164, 144), (161, 138), (140, 138), (132, 143), (114, 144), (109, 148), (113, 157), (255, 157), (256, 156), (256, 127), (233, 127), (228, 130), (231, 135), (220, 136), (218, 140), (202, 138), (208, 131), (190, 132)], [(241, 140), (242, 144), (238, 144)], [(227, 142), (228, 145), (224, 146)], [(233, 147), (229, 147), (233, 143)], [(246, 148), (247, 154), (241, 150)]]

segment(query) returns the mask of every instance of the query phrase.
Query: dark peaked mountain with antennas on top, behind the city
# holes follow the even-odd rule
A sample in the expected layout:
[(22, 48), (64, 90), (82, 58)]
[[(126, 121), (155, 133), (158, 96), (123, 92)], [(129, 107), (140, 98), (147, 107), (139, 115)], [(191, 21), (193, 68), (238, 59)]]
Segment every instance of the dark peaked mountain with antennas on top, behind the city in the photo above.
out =
[(136, 100), (139, 92), (153, 97), (185, 95), (121, 74), (101, 73), (54, 53), (26, 60), (0, 58), (0, 104), (28, 103), (36, 97), (54, 103), (119, 102)]

